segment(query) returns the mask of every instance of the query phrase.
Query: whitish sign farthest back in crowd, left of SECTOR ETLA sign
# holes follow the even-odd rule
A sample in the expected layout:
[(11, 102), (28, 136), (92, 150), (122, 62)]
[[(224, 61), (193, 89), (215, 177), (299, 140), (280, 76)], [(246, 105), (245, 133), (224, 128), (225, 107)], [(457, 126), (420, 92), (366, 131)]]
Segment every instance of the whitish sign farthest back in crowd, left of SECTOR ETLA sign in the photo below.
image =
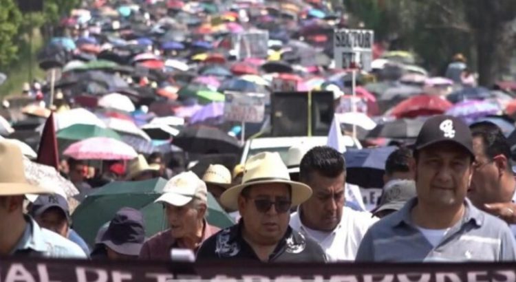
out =
[(249, 30), (233, 34), (232, 45), (237, 59), (267, 58), (269, 32), (267, 30)]

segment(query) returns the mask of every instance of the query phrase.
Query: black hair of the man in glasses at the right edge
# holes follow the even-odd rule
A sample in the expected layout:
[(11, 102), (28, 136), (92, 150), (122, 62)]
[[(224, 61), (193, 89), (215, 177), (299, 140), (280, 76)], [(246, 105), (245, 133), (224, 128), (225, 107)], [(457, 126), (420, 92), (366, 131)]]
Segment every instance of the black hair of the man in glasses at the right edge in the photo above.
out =
[[(502, 129), (493, 122), (476, 122), (471, 124), (471, 135), (473, 138), (482, 138), (484, 153), (489, 160), (493, 160), (497, 155), (504, 155), (510, 161), (510, 144), (507, 141)], [(510, 169), (510, 166), (507, 166)]]

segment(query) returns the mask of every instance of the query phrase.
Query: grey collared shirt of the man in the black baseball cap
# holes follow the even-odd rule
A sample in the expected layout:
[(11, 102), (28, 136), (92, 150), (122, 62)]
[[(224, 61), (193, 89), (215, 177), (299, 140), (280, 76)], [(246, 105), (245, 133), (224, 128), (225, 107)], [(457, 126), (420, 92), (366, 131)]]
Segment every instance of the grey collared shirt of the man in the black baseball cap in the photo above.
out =
[(464, 202), (464, 217), (434, 248), (411, 220), (417, 198), (411, 199), (369, 228), (356, 261), (515, 261), (516, 241), (507, 224)]

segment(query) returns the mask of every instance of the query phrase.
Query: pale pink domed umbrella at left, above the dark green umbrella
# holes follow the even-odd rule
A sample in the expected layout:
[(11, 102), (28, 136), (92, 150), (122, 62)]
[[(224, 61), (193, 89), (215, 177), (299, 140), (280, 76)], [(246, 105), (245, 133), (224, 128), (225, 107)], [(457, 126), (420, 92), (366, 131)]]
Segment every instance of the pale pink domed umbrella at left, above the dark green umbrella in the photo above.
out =
[(71, 144), (63, 155), (76, 160), (132, 160), (138, 153), (122, 141), (94, 137)]

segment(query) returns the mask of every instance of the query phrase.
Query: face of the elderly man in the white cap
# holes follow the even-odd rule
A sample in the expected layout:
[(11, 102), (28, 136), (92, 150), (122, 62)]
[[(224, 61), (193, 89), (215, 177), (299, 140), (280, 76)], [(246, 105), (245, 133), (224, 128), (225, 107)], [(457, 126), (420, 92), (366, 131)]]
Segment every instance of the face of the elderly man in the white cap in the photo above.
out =
[(171, 204), (165, 204), (166, 217), (169, 219), (170, 230), (172, 231), (172, 237), (180, 239), (183, 237), (193, 236), (197, 232), (197, 224), (200, 219), (204, 217), (197, 210), (193, 202), (189, 202), (184, 206), (173, 206)]

